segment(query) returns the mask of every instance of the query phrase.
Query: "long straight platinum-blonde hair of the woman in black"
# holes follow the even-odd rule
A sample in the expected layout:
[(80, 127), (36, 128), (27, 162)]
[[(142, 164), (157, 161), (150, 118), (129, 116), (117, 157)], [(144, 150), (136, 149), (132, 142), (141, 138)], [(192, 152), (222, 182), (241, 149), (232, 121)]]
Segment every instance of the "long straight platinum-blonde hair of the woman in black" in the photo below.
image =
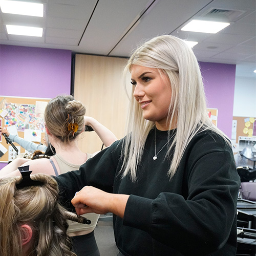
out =
[[(199, 64), (184, 40), (171, 35), (155, 37), (132, 54), (124, 69), (124, 77), (128, 71), (131, 72), (133, 65), (158, 69), (159, 73), (166, 74), (170, 81), (172, 98), (167, 117), (168, 138), (174, 122), (177, 122), (177, 132), (166, 154), (166, 157), (169, 157), (170, 153), (174, 152), (167, 172), (169, 179), (175, 175), (188, 143), (199, 131), (215, 131), (230, 145), (227, 137), (209, 119)], [(145, 141), (155, 122), (143, 118), (143, 111), (135, 100), (133, 91), (126, 129), (128, 135), (122, 146), (122, 177), (129, 175), (135, 182)]]

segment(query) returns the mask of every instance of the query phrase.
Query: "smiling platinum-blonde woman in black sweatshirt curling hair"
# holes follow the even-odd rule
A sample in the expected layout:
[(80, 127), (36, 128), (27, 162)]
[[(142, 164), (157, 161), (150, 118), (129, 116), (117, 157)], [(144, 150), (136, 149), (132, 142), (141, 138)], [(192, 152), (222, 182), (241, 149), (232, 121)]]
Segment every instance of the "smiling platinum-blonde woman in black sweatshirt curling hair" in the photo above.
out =
[(61, 195), (78, 215), (113, 212), (119, 255), (236, 255), (240, 178), (229, 140), (208, 118), (193, 51), (155, 37), (127, 70), (129, 134), (58, 176)]

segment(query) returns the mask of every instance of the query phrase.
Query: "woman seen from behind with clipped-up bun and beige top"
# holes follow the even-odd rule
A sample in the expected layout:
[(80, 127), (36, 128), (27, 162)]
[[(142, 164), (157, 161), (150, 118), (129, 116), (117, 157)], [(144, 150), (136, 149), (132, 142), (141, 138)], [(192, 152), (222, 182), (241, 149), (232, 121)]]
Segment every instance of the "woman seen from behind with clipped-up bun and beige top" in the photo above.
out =
[[(34, 173), (45, 173), (58, 176), (69, 171), (78, 170), (94, 154), (83, 153), (78, 147), (78, 135), (84, 131), (84, 125), (90, 125), (101, 138), (105, 146), (111, 145), (117, 138), (92, 117), (84, 117), (85, 106), (71, 95), (59, 95), (52, 99), (46, 107), (45, 126), (49, 142), (54, 146), (56, 154), (50, 159), (36, 160), (17, 159), (0, 170), (0, 178), (19, 175), (15, 170), (19, 164), (29, 165)], [(21, 162), (22, 161), (22, 162)], [(68, 234), (72, 239), (74, 252), (78, 256), (98, 256), (99, 251), (94, 237), (94, 228), (99, 215), (87, 214), (90, 225), (69, 223)]]

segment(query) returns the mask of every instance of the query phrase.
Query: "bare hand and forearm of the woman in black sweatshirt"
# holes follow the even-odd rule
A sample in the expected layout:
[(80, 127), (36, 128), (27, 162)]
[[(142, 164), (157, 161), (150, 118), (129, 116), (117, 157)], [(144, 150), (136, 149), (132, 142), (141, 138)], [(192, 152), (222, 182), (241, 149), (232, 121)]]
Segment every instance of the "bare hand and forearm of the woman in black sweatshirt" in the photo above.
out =
[(106, 193), (96, 187), (85, 186), (78, 191), (71, 203), (77, 215), (95, 212), (95, 214), (113, 214), (123, 218), (128, 195)]

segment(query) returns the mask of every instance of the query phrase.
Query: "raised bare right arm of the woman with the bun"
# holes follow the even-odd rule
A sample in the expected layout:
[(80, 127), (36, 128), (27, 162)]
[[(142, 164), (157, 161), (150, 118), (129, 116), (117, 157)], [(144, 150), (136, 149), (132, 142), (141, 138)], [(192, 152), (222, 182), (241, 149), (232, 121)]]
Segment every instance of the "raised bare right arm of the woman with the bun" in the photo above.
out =
[(95, 118), (84, 116), (84, 123), (93, 128), (106, 147), (110, 146), (114, 141), (117, 140), (117, 137)]

